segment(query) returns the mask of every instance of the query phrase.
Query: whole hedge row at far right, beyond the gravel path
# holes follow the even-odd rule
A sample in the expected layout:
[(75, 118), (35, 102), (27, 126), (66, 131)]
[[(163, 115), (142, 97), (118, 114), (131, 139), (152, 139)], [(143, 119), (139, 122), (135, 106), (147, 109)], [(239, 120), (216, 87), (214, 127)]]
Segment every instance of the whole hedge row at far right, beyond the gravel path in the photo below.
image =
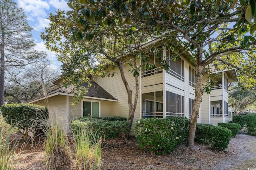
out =
[(248, 135), (256, 136), (256, 113), (234, 115), (233, 123), (239, 123), (241, 127), (247, 127)]

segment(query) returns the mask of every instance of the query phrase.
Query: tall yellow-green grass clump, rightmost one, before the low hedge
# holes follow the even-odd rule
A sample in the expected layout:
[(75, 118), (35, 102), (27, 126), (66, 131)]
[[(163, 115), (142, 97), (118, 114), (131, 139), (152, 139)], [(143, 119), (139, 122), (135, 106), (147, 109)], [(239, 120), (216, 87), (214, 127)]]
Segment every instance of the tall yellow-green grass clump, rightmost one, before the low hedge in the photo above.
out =
[(100, 170), (102, 133), (92, 128), (92, 122), (82, 122), (74, 135), (77, 170)]

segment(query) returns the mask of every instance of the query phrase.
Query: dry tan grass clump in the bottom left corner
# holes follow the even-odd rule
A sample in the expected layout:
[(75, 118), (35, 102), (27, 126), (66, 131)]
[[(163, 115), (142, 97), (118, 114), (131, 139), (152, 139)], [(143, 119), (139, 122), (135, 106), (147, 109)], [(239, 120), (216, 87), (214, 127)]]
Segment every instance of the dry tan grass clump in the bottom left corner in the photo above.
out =
[[(18, 149), (18, 141), (15, 141), (14, 145), (10, 147), (10, 136), (14, 128), (12, 126), (6, 125), (5, 121), (2, 119), (0, 121), (0, 170), (12, 170), (15, 169), (17, 164), (20, 151)], [(21, 145), (20, 150), (24, 148), (24, 145)]]

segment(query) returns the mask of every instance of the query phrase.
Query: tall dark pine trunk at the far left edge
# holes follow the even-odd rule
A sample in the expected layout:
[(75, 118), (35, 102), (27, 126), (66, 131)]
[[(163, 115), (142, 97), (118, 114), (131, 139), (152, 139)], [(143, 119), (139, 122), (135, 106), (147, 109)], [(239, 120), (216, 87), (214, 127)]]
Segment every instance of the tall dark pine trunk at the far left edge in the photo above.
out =
[(4, 103), (4, 30), (2, 30), (1, 44), (0, 44), (0, 107)]

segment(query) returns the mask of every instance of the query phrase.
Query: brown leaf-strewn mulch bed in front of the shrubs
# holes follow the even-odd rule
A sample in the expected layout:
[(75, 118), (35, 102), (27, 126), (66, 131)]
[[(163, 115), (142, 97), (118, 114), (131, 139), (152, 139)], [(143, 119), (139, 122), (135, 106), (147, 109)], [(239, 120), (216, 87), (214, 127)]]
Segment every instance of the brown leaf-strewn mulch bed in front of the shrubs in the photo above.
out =
[[(180, 145), (172, 154), (156, 155), (147, 150), (141, 150), (134, 137), (130, 137), (127, 142), (120, 139), (106, 139), (102, 144), (101, 169), (218, 169), (217, 165), (219, 167), (221, 164), (225, 164), (225, 161), (229, 158), (235, 158), (239, 152), (238, 145), (241, 145), (241, 143), (236, 142), (236, 138), (232, 138), (228, 149), (225, 151), (215, 151), (206, 145), (196, 144), (193, 150), (186, 148), (185, 145)], [(45, 153), (42, 145), (34, 146), (36, 145), (29, 144), (26, 150), (22, 152), (16, 165), (18, 170), (46, 169), (44, 165)], [(236, 160), (239, 160), (239, 158)], [(234, 162), (236, 160), (234, 159)], [(75, 170), (76, 168), (73, 166), (71, 169)]]

